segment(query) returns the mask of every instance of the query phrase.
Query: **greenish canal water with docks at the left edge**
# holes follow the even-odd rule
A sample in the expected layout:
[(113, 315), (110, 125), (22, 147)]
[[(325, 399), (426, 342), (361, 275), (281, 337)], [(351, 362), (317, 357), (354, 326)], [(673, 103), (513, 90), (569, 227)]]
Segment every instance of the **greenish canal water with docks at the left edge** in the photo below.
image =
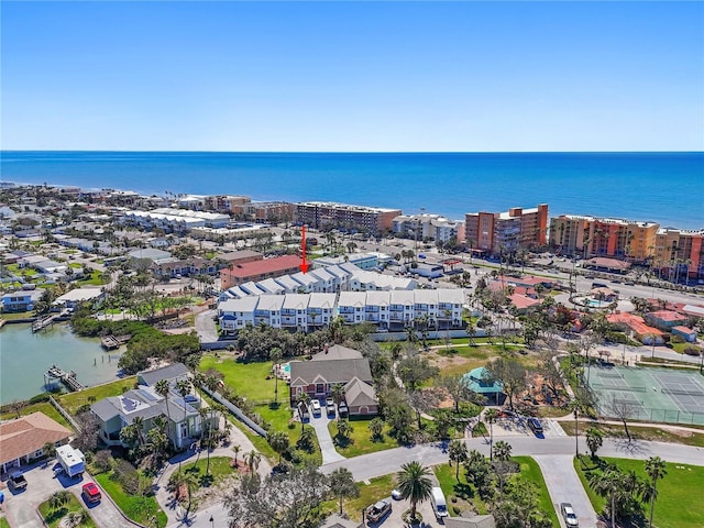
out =
[(56, 365), (75, 371), (87, 386), (118, 377), (119, 351), (107, 352), (98, 338), (80, 338), (67, 324), (32, 333), (30, 324), (0, 329), (0, 404), (44, 392), (44, 373)]

